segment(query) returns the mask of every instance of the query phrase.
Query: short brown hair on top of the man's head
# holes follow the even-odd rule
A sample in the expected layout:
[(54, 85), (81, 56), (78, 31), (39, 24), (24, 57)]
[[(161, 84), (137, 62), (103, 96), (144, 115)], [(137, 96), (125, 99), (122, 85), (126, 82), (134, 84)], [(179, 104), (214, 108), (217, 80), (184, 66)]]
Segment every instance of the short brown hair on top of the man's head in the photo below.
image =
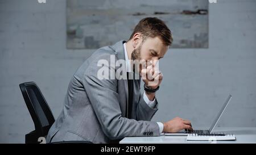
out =
[(155, 17), (148, 17), (139, 21), (129, 40), (133, 39), (134, 34), (138, 32), (142, 33), (143, 37), (158, 36), (163, 41), (164, 45), (171, 45), (173, 41), (170, 29), (166, 26), (163, 20)]

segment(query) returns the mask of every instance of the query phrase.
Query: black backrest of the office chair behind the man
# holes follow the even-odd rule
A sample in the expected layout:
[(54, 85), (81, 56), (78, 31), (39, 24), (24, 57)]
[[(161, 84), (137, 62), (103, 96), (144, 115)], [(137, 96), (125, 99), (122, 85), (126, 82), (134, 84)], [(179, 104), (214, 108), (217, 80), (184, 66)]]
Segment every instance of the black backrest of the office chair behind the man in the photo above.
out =
[(46, 136), (55, 122), (52, 111), (35, 82), (20, 83), (20, 90), (35, 125), (38, 136)]

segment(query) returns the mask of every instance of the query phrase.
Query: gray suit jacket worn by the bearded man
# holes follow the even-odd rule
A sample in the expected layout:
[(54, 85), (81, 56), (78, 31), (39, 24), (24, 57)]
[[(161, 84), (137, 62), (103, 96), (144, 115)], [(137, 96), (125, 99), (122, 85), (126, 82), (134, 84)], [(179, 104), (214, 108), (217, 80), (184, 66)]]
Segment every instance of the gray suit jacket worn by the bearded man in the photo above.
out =
[[(134, 81), (131, 117), (125, 118), (128, 86), (125, 79), (98, 79), (98, 60), (125, 60), (124, 41), (102, 47), (93, 53), (69, 82), (63, 111), (47, 135), (47, 143), (86, 140), (93, 143), (112, 143), (127, 136), (159, 136), (159, 126), (151, 122), (158, 110), (151, 108), (140, 93), (141, 80)], [(117, 68), (115, 68), (117, 69)]]

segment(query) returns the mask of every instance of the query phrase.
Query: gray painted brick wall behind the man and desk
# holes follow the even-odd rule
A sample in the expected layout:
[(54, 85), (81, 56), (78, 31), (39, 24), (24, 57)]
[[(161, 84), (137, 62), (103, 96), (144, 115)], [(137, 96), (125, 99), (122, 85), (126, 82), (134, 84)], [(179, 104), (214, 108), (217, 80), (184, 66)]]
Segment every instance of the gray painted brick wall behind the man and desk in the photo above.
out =
[[(19, 83), (38, 83), (57, 118), (69, 80), (93, 50), (65, 48), (63, 0), (1, 0), (0, 21), (0, 143), (24, 143), (34, 125)], [(210, 4), (209, 49), (170, 49), (160, 62), (154, 120), (180, 116), (209, 127), (232, 94), (218, 126), (256, 127), (255, 21), (254, 0)]]

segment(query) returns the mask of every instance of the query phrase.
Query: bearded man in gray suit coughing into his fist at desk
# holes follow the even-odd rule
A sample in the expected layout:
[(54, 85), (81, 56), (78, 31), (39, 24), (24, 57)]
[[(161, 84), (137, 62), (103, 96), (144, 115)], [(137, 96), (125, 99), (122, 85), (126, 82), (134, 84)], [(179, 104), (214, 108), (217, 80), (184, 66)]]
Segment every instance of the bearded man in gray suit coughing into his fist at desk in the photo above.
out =
[[(49, 130), (47, 143), (73, 140), (112, 143), (127, 136), (193, 130), (191, 123), (181, 118), (165, 123), (150, 121), (158, 110), (155, 92), (163, 79), (156, 60), (165, 55), (171, 43), (171, 31), (162, 20), (144, 18), (127, 42), (121, 40), (94, 52), (71, 79), (63, 111)], [(109, 65), (113, 64), (113, 58), (114, 64), (125, 61), (122, 68), (127, 74), (118, 75), (120, 66)], [(129, 60), (150, 63), (134, 65)], [(101, 62), (104, 69), (109, 69), (104, 74)], [(141, 78), (144, 93), (140, 93)]]

